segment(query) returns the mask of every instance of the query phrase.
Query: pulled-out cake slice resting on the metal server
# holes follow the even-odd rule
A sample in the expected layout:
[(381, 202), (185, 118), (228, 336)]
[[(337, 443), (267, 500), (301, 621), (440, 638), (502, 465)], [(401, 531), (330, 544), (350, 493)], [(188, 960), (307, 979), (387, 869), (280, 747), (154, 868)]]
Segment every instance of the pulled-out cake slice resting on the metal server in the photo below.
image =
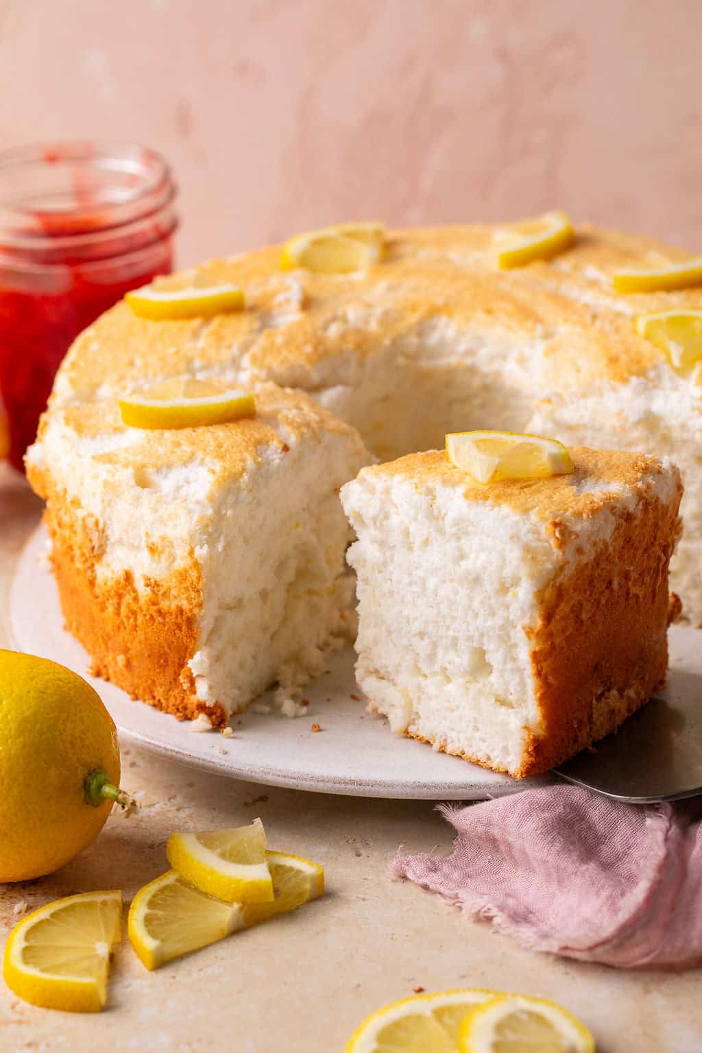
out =
[(678, 470), (570, 455), (569, 475), (483, 485), (430, 451), (342, 488), (358, 536), (357, 678), (395, 732), (522, 778), (662, 683)]

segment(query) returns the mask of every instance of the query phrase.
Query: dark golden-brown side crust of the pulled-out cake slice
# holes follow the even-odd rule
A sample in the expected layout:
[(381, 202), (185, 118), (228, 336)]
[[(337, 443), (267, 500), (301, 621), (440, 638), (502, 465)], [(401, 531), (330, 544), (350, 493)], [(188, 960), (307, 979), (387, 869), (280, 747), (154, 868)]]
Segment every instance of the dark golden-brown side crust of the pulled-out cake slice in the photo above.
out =
[(642, 500), (620, 515), (606, 545), (544, 591), (539, 625), (527, 633), (543, 734), (529, 736), (520, 776), (608, 735), (665, 679), (681, 497), (678, 483), (677, 501)]

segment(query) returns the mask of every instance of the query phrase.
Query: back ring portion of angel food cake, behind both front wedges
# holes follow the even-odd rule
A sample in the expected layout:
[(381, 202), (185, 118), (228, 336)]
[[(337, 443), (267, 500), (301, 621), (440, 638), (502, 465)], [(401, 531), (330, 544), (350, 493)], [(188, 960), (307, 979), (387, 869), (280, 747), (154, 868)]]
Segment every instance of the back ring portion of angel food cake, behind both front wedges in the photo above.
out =
[[(172, 377), (270, 380), (313, 395), (382, 460), (475, 428), (670, 456), (685, 482), (671, 581), (702, 622), (702, 365), (666, 341), (664, 323), (645, 323), (702, 311), (702, 287), (668, 287), (702, 272), (671, 281), (666, 269), (688, 266), (685, 253), (589, 226), (547, 259), (522, 255), (504, 270), (515, 236), (505, 225), (388, 232), (382, 251), (344, 257), (338, 273), (328, 258), (281, 260), (274, 246), (162, 279), (162, 290), (233, 282), (245, 303), (177, 319), (118, 304), (75, 342), (48, 419)], [(631, 267), (658, 278), (622, 281)], [(45, 463), (51, 474), (51, 454)]]

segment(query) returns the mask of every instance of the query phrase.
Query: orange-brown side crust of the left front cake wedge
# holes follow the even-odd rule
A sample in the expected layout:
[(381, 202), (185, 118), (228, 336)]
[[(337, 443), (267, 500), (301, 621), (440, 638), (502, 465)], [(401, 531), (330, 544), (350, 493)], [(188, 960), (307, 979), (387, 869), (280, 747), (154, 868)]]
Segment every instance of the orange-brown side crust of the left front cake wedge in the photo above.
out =
[(101, 580), (99, 528), (78, 516), (65, 494), (48, 497), (44, 518), (61, 609), (66, 629), (92, 656), (93, 674), (180, 720), (205, 713), (214, 727), (226, 724), (222, 707), (197, 698), (187, 668), (202, 602), (195, 558), (167, 589), (146, 579), (140, 593), (127, 571)]

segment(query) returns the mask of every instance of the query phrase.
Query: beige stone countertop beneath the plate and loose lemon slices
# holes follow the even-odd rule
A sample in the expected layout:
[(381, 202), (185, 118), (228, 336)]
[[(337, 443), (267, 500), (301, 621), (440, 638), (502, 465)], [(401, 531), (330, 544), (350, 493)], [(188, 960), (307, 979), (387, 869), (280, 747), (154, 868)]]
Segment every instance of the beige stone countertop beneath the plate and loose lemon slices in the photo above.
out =
[[(0, 465), (0, 647), (12, 645), (7, 588), (40, 513), (23, 480)], [(589, 1026), (599, 1053), (702, 1051), (699, 971), (619, 972), (535, 954), (436, 896), (390, 880), (400, 845), (450, 847), (450, 829), (430, 802), (238, 782), (128, 744), (122, 771), (122, 784), (141, 803), (137, 816), (112, 816), (96, 843), (57, 874), (0, 886), (0, 941), (22, 900), (34, 909), (75, 892), (121, 888), (128, 902), (167, 869), (171, 830), (238, 826), (257, 815), (272, 847), (324, 866), (327, 894), (154, 973), (125, 935), (100, 1015), (35, 1009), (0, 981), (2, 1053), (341, 1053), (367, 1013), (418, 987), (555, 998)]]

